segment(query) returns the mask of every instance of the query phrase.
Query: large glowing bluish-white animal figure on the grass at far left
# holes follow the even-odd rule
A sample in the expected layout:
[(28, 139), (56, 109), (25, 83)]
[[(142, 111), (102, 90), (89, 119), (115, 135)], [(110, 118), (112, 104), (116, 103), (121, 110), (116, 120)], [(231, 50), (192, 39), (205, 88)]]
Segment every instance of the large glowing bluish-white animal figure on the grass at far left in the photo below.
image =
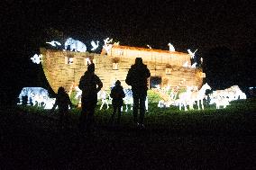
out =
[[(41, 103), (46, 103), (49, 99), (48, 91), (42, 87), (23, 87), (19, 94), (20, 103), (23, 102), (23, 96), (28, 96), (28, 104), (44, 106)], [(18, 103), (18, 104), (20, 104)]]

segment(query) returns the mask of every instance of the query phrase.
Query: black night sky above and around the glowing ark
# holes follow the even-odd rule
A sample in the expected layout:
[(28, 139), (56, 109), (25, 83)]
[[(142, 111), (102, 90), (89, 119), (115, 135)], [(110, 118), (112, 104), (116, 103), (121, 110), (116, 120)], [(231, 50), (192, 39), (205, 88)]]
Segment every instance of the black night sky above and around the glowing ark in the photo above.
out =
[[(30, 58), (47, 47), (106, 37), (121, 45), (197, 50), (204, 58), (206, 82), (215, 89), (256, 86), (255, 1), (3, 1), (1, 4), (2, 92), (15, 95), (23, 86), (45, 85), (39, 65)], [(3, 29), (4, 28), (4, 29)], [(3, 73), (3, 72), (2, 72)], [(6, 95), (6, 94), (5, 94)]]

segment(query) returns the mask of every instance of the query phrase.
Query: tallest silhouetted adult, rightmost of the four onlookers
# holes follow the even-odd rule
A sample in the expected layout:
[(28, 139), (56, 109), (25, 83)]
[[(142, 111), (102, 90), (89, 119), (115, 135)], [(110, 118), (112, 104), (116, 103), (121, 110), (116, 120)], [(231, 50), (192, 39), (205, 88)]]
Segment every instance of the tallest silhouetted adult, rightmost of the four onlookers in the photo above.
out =
[[(144, 127), (145, 101), (148, 90), (148, 78), (151, 72), (147, 65), (142, 63), (142, 58), (136, 58), (135, 64), (129, 69), (125, 82), (132, 86), (133, 91), (133, 121), (141, 128)], [(138, 122), (138, 111), (140, 108), (140, 118)]]

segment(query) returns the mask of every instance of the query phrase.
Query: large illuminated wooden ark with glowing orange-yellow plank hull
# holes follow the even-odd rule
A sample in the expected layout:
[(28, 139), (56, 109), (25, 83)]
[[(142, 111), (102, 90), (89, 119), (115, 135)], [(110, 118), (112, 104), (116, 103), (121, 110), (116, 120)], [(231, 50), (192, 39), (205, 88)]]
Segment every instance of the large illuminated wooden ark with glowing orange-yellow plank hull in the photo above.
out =
[[(105, 45), (109, 45), (109, 41), (111, 40), (105, 40)], [(138, 57), (143, 59), (143, 63), (151, 71), (150, 88), (156, 85), (156, 79), (160, 80), (160, 86), (170, 88), (179, 85), (182, 78), (186, 79), (186, 84), (182, 87), (197, 85), (199, 88), (202, 85), (205, 77), (202, 68), (182, 66), (185, 62), (187, 66), (191, 66), (187, 53), (111, 45), (112, 48), (106, 54), (41, 48), (41, 65), (53, 91), (57, 92), (59, 86), (69, 89), (73, 83), (77, 86), (80, 77), (87, 71), (88, 59), (95, 63), (96, 75), (101, 78), (104, 89), (110, 89), (117, 79), (121, 81), (123, 88), (131, 88), (124, 80), (128, 69)]]

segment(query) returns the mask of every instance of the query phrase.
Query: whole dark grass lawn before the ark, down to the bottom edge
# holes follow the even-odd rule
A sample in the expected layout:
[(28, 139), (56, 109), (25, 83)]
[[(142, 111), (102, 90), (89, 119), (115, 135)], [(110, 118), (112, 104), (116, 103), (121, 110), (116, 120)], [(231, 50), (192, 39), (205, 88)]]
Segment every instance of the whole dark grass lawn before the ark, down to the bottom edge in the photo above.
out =
[(255, 102), (188, 112), (151, 103), (144, 130), (131, 111), (120, 127), (109, 126), (111, 107), (97, 106), (91, 137), (78, 135), (80, 109), (70, 111), (70, 127), (61, 130), (58, 112), (2, 107), (0, 169), (255, 169)]

